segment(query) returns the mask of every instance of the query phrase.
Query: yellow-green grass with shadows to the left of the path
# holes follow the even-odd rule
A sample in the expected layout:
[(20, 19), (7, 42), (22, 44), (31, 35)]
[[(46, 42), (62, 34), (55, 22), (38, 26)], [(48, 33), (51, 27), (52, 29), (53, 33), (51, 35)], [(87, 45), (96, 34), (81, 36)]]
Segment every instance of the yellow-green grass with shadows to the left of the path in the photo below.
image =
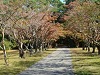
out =
[(29, 54), (25, 54), (25, 59), (19, 58), (17, 50), (8, 50), (9, 66), (4, 65), (3, 54), (2, 51), (0, 51), (0, 75), (16, 75), (55, 50), (56, 49), (49, 49), (41, 53), (33, 54), (31, 57)]

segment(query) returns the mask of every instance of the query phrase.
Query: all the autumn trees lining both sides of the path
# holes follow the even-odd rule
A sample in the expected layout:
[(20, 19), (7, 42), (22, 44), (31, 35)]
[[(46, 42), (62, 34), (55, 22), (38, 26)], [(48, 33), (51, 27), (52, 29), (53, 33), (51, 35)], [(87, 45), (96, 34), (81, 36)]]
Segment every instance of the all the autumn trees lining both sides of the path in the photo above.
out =
[[(82, 41), (100, 54), (99, 0), (0, 0), (0, 48), (7, 54), (5, 38), (16, 43), (19, 56), (47, 50), (59, 37), (69, 36), (77, 47)], [(8, 37), (5, 37), (8, 36)]]

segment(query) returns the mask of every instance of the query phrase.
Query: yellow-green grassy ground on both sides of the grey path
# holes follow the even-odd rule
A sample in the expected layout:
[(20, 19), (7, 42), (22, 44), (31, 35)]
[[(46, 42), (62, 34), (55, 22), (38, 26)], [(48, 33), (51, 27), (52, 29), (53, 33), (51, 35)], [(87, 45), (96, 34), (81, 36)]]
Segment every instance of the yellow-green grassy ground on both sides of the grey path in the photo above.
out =
[[(16, 75), (37, 61), (51, 54), (56, 49), (34, 54), (25, 59), (18, 56), (18, 51), (7, 51), (9, 66), (4, 65), (3, 54), (0, 51), (0, 75)], [(97, 53), (87, 52), (81, 48), (70, 48), (72, 54), (73, 71), (76, 75), (100, 75), (100, 56)]]

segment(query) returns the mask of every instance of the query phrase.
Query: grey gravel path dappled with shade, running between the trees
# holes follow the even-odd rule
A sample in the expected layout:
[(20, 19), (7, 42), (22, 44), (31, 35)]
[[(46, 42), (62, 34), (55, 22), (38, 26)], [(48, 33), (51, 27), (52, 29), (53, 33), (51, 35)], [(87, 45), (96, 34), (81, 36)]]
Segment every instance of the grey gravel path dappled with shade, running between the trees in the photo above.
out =
[(58, 48), (19, 75), (74, 75), (68, 48)]

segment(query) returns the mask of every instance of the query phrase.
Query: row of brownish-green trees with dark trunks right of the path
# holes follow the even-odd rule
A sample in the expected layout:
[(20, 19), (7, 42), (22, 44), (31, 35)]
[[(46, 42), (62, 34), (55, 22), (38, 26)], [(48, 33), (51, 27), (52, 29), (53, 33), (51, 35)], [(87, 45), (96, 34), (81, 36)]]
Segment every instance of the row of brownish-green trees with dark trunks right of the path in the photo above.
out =
[(74, 38), (77, 47), (83, 41), (83, 50), (87, 47), (90, 51), (92, 44), (92, 52), (97, 47), (100, 54), (100, 2), (76, 0), (65, 7), (70, 17), (65, 23), (67, 34)]

